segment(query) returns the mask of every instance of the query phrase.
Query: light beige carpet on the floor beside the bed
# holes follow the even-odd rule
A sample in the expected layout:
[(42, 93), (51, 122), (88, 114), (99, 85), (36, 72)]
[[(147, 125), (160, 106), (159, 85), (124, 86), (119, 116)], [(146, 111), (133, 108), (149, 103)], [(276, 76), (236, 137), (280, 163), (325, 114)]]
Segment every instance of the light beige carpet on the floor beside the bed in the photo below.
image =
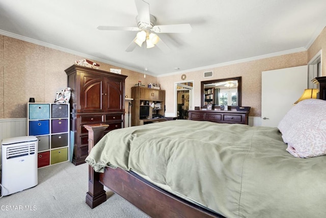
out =
[[(23, 181), (21, 181), (23, 182)], [(88, 165), (70, 162), (38, 169), (39, 184), (0, 199), (0, 217), (148, 217), (112, 191), (91, 209), (85, 203)]]

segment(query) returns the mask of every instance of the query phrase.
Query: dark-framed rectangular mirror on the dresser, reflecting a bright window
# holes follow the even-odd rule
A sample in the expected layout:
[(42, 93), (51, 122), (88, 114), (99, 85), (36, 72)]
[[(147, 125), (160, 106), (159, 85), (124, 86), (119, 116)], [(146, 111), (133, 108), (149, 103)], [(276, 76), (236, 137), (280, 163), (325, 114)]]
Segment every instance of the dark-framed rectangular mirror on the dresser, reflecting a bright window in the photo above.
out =
[(208, 104), (229, 108), (241, 106), (241, 77), (201, 81), (202, 108)]

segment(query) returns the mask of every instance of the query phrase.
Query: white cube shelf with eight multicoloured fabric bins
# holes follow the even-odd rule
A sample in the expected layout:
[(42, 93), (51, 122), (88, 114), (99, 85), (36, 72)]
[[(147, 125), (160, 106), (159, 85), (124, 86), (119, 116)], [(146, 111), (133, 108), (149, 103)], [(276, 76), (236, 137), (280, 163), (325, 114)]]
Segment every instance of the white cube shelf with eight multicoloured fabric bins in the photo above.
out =
[(68, 161), (69, 104), (28, 103), (27, 132), (38, 139), (38, 167)]

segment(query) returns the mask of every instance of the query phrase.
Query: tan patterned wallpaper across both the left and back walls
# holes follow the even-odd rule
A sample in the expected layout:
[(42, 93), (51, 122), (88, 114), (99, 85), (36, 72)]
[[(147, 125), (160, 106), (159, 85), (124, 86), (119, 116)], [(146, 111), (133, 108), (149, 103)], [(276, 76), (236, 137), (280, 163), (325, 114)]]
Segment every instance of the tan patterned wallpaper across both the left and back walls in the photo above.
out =
[[(186, 73), (186, 81), (194, 81), (194, 105), (200, 106), (200, 81), (242, 77), (242, 106), (250, 106), (250, 116), (261, 115), (261, 71), (305, 65), (321, 49), (322, 76), (326, 76), (326, 30), (316, 38), (308, 51), (231, 64)], [(53, 102), (56, 91), (67, 85), (65, 69), (75, 60), (85, 59), (59, 50), (0, 35), (0, 118), (26, 117), (26, 102)], [(100, 63), (100, 69), (117, 68)], [(131, 86), (141, 80), (159, 83), (166, 90), (166, 113), (174, 113), (174, 83), (181, 82), (181, 74), (155, 78), (121, 68), (126, 79), (126, 95), (131, 98)], [(213, 71), (213, 77), (203, 73)], [(128, 103), (128, 102), (127, 102)], [(126, 104), (127, 108), (127, 104)], [(127, 110), (126, 110), (127, 111)]]

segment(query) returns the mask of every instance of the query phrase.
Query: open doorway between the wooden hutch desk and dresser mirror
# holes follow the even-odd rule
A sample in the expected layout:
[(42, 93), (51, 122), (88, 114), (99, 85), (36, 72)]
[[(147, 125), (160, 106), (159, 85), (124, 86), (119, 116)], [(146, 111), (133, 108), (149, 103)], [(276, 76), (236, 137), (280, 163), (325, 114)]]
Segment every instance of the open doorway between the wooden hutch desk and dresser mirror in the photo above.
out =
[(175, 116), (178, 119), (188, 119), (188, 110), (193, 108), (193, 84), (192, 81), (175, 83)]

